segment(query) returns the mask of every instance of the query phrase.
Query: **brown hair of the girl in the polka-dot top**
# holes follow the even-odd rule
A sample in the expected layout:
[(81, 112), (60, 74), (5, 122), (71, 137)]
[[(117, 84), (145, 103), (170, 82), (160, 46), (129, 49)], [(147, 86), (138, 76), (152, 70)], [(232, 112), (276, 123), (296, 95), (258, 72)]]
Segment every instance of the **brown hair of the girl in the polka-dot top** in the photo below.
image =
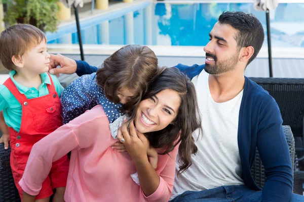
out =
[(96, 81), (103, 88), (106, 98), (114, 103), (120, 103), (119, 89), (131, 90), (134, 99), (125, 105), (126, 109), (131, 109), (140, 102), (157, 71), (158, 59), (150, 48), (126, 45), (105, 59), (96, 73)]

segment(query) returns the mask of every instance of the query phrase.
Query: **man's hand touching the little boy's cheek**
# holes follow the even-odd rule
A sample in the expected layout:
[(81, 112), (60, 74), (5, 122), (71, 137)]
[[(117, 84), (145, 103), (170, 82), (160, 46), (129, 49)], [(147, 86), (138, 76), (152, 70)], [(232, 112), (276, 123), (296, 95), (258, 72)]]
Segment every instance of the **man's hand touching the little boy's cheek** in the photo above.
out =
[[(77, 70), (77, 64), (74, 60), (62, 56), (60, 54), (53, 55), (50, 54), (50, 65), (49, 65), (49, 73), (55, 74), (57, 77), (59, 74), (73, 74)], [(61, 68), (57, 68), (60, 66)]]

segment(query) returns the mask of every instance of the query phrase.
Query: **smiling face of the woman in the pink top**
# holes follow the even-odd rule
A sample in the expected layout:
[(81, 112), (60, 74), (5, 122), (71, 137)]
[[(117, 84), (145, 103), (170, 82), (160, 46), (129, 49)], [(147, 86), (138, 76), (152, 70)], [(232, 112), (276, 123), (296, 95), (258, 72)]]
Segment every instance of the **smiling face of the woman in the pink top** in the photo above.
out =
[(166, 128), (177, 116), (180, 101), (179, 94), (171, 89), (142, 100), (134, 120), (136, 129), (146, 133)]

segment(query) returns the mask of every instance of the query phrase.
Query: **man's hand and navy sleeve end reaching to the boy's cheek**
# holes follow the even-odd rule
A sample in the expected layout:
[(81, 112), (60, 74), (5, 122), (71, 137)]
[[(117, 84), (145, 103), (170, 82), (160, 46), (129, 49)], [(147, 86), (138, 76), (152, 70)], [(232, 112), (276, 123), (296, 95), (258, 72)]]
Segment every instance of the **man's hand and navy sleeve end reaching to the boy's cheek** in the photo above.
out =
[[(75, 61), (60, 54), (50, 54), (49, 73), (59, 76), (59, 74), (73, 74), (77, 73), (78, 76), (85, 74), (92, 74), (97, 71), (97, 67), (90, 66), (85, 61)], [(61, 68), (57, 68), (60, 66)]]

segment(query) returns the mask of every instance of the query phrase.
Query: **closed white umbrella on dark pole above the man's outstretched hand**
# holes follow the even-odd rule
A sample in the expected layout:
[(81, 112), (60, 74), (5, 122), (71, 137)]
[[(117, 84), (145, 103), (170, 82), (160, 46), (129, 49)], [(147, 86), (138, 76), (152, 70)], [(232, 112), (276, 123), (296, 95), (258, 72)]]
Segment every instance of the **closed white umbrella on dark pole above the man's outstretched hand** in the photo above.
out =
[(81, 60), (85, 60), (84, 56), (84, 49), (81, 39), (81, 31), (80, 31), (80, 23), (79, 23), (79, 15), (78, 15), (78, 6), (83, 7), (84, 2), (83, 0), (60, 0), (67, 8), (71, 8), (71, 6), (74, 7), (74, 13), (75, 13), (75, 19), (76, 19), (76, 25), (77, 25), (77, 33), (78, 33), (78, 40), (79, 40), (79, 48), (80, 48), (80, 56)]

